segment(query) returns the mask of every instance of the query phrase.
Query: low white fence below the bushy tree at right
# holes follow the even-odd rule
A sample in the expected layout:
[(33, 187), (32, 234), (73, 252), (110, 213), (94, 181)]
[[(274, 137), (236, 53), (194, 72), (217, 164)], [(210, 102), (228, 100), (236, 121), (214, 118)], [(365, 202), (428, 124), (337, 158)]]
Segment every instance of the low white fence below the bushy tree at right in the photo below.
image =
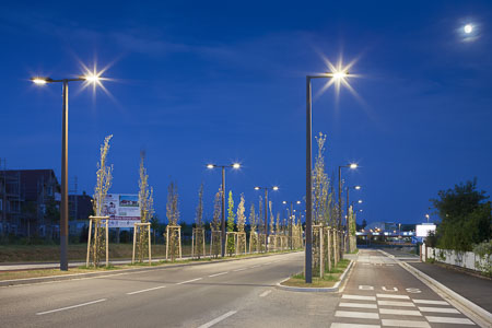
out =
[(440, 249), (422, 245), (421, 259), (434, 259), (438, 262), (467, 268), (480, 272), (490, 272), (492, 259), (476, 255), (473, 251), (456, 251), (450, 249)]

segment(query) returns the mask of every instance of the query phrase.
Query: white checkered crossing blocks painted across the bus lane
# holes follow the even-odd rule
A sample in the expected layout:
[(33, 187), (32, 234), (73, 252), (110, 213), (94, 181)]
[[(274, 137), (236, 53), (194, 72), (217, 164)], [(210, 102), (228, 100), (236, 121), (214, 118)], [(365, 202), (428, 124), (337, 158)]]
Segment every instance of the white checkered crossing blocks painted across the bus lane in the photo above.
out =
[[(413, 298), (415, 297), (415, 298)], [(468, 327), (476, 324), (443, 300), (419, 295), (342, 294), (331, 328)]]

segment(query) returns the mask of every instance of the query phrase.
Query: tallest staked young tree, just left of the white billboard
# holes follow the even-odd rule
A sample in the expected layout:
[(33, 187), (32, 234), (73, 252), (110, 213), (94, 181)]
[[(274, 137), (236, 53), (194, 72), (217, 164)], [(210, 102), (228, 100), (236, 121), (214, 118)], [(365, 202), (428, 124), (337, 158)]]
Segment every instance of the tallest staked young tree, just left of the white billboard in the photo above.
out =
[[(104, 200), (106, 198), (107, 191), (112, 187), (113, 181), (113, 165), (107, 165), (107, 153), (109, 152), (109, 141), (113, 134), (107, 136), (104, 139), (104, 143), (101, 145), (101, 159), (97, 163), (97, 180), (94, 187), (94, 196), (92, 197), (92, 206), (94, 209), (95, 216), (103, 216)], [(94, 238), (93, 238), (93, 265), (97, 267), (99, 265), (101, 256), (104, 251), (103, 236), (106, 235), (105, 229), (102, 226), (99, 220), (96, 220), (94, 227)], [(107, 243), (108, 241), (106, 241)]]

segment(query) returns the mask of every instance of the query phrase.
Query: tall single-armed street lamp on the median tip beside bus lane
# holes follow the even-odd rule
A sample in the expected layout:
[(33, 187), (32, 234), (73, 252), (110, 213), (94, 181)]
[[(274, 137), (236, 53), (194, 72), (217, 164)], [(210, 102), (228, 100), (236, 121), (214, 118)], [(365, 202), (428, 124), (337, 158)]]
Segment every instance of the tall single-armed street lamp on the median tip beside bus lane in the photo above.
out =
[(313, 282), (313, 181), (312, 181), (312, 169), (313, 169), (313, 108), (312, 108), (312, 83), (313, 79), (330, 79), (338, 83), (347, 83), (344, 79), (348, 77), (349, 72), (347, 70), (338, 70), (335, 72), (318, 74), (318, 75), (307, 75), (306, 77), (306, 249), (305, 249), (305, 280), (306, 283)]

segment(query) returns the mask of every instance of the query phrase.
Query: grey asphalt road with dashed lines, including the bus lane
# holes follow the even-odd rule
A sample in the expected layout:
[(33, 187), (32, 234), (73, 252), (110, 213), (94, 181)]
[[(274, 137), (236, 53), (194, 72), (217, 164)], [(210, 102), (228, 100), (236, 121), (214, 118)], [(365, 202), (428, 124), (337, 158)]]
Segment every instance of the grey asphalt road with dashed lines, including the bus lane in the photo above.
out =
[[(341, 293), (276, 289), (278, 281), (303, 269), (303, 259), (302, 253), (284, 254), (0, 288), (0, 326), (371, 328), (473, 325), (393, 259), (376, 250), (361, 250)], [(440, 320), (442, 323), (437, 323)]]

